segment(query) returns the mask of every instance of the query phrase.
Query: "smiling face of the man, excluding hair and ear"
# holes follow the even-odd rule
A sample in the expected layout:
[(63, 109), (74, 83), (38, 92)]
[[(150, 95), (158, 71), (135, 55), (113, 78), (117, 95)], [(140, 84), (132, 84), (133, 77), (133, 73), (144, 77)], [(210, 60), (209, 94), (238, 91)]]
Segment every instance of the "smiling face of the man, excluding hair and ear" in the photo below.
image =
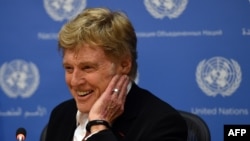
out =
[(65, 79), (77, 108), (88, 113), (117, 73), (113, 62), (99, 48), (82, 45), (77, 51), (66, 50), (63, 57)]

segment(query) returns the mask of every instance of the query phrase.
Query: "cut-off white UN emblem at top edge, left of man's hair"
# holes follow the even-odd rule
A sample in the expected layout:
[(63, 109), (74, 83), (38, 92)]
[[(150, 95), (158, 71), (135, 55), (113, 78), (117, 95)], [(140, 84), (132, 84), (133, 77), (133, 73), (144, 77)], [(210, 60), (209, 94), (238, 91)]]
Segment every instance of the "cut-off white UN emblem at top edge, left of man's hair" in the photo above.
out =
[(68, 20), (86, 7), (86, 0), (43, 0), (49, 16), (55, 21)]

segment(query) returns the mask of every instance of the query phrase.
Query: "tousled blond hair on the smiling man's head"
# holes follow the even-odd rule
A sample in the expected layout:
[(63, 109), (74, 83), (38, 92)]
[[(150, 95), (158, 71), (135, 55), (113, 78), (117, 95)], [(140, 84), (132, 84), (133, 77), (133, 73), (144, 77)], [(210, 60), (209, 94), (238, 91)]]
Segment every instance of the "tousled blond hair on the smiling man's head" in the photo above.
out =
[(107, 8), (87, 8), (66, 23), (59, 32), (59, 49), (76, 49), (79, 44), (101, 47), (113, 60), (130, 57), (132, 67), (128, 74), (137, 74), (137, 38), (128, 17), (120, 11)]

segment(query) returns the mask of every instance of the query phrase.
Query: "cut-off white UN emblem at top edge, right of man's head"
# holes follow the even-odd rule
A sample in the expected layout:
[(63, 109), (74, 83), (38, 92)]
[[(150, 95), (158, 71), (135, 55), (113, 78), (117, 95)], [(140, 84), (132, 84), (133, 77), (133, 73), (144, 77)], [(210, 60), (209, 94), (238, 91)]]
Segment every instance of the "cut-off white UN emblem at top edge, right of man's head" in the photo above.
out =
[(177, 18), (186, 8), (188, 0), (144, 0), (149, 13), (157, 18)]

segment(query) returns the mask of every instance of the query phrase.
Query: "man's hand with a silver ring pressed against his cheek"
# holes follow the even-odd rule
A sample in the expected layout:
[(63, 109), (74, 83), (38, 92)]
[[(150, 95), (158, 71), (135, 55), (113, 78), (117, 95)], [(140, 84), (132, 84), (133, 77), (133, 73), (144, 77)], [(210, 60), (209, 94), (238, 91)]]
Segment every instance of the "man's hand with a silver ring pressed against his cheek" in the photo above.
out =
[(89, 121), (105, 120), (110, 124), (124, 111), (129, 77), (115, 75), (106, 90), (95, 102), (89, 112)]

